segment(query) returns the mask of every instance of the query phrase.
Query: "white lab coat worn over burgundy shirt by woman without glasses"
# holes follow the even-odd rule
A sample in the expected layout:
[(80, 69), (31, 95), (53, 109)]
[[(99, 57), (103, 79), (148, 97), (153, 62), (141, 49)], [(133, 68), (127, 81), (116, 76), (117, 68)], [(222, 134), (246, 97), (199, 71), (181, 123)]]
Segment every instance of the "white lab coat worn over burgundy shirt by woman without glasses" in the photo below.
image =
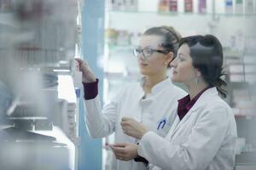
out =
[(232, 170), (235, 148), (234, 115), (218, 97), (217, 89), (209, 88), (182, 121), (176, 117), (166, 139), (154, 132), (146, 133), (138, 154), (154, 170)]

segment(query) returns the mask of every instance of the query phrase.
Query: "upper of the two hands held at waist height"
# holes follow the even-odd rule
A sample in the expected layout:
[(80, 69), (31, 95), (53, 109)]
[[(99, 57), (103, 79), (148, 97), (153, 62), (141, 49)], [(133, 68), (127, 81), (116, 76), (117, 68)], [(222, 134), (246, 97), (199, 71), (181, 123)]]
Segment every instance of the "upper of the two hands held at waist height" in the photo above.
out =
[(125, 134), (136, 139), (142, 139), (143, 135), (148, 132), (147, 127), (144, 127), (142, 123), (130, 117), (123, 117), (121, 126)]

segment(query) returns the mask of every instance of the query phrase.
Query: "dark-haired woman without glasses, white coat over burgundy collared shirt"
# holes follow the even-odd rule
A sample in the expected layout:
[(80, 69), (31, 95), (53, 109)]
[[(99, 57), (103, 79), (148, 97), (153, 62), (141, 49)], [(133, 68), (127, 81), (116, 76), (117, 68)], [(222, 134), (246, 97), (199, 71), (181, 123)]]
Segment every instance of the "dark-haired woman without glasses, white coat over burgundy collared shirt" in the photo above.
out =
[(123, 118), (124, 132), (141, 139), (137, 154), (149, 161), (150, 169), (234, 168), (236, 122), (230, 106), (218, 96), (226, 95), (222, 65), (223, 50), (216, 37), (183, 38), (171, 63), (172, 81), (183, 82), (189, 95), (178, 100), (177, 117), (166, 138)]

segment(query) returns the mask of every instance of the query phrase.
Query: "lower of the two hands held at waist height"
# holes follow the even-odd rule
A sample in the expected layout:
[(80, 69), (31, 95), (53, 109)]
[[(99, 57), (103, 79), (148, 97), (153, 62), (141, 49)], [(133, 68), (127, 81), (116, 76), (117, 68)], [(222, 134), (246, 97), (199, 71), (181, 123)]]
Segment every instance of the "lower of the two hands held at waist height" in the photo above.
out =
[(137, 157), (137, 144), (110, 144), (116, 159), (130, 161)]

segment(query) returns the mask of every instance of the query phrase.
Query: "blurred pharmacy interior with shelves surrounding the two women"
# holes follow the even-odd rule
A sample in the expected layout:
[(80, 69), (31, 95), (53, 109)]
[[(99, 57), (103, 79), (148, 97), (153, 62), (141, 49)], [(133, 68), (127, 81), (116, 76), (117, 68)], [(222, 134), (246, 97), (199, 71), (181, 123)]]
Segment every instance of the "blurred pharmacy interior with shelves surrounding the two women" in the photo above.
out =
[(256, 169), (255, 0), (0, 0), (0, 169), (108, 170), (113, 135), (88, 136), (73, 59), (89, 63), (107, 103), (141, 78), (132, 48), (153, 26), (222, 42), (236, 170)]

